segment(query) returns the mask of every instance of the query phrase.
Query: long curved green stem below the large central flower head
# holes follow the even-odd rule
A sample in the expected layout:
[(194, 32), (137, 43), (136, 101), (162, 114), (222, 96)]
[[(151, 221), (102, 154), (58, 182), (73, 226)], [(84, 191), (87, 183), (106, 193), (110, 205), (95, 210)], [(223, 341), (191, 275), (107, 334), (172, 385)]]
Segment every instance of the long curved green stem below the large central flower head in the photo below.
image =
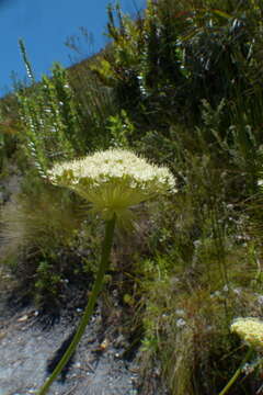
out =
[(99, 268), (99, 271), (96, 273), (96, 279), (95, 279), (94, 285), (92, 287), (92, 292), (91, 292), (91, 295), (89, 297), (89, 302), (88, 302), (87, 307), (84, 309), (83, 316), (82, 316), (81, 321), (79, 324), (79, 327), (77, 329), (77, 332), (76, 332), (71, 343), (69, 345), (68, 349), (66, 350), (65, 354), (62, 356), (62, 358), (58, 362), (57, 366), (53, 371), (52, 375), (46, 380), (44, 385), (37, 392), (37, 395), (44, 395), (44, 394), (47, 393), (49, 386), (52, 385), (54, 380), (56, 380), (56, 377), (59, 375), (59, 373), (61, 373), (64, 366), (69, 361), (69, 359), (72, 356), (72, 353), (75, 352), (78, 343), (80, 342), (80, 339), (81, 339), (82, 335), (84, 334), (85, 327), (89, 324), (90, 317), (91, 317), (91, 315), (93, 313), (98, 295), (99, 295), (99, 293), (100, 293), (100, 291), (102, 289), (103, 278), (104, 278), (105, 271), (108, 268), (110, 253), (111, 253), (111, 248), (112, 248), (112, 242), (113, 242), (113, 234), (114, 234), (115, 223), (116, 223), (115, 215), (113, 216), (112, 219), (106, 221), (105, 236), (104, 236), (104, 240), (103, 240), (103, 244), (102, 244), (102, 256), (101, 256), (100, 268)]

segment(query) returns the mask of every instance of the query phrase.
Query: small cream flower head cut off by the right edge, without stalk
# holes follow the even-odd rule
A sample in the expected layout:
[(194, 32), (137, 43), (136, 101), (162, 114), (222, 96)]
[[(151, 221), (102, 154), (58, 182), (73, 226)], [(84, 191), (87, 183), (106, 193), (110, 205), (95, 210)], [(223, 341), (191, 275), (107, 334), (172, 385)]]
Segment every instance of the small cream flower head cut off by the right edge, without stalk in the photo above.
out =
[(240, 336), (249, 346), (263, 350), (263, 321), (253, 318), (237, 318), (232, 323), (230, 330)]

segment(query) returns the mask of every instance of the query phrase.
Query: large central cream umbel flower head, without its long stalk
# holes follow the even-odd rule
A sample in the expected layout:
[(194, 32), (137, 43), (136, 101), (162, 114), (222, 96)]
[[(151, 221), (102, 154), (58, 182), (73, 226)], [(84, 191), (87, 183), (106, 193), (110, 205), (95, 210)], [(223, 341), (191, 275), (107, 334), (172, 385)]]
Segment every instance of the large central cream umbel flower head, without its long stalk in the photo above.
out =
[(57, 163), (48, 177), (53, 183), (68, 187), (91, 202), (93, 212), (104, 219), (116, 215), (121, 224), (130, 222), (130, 207), (176, 191), (168, 168), (151, 165), (125, 149), (98, 151)]

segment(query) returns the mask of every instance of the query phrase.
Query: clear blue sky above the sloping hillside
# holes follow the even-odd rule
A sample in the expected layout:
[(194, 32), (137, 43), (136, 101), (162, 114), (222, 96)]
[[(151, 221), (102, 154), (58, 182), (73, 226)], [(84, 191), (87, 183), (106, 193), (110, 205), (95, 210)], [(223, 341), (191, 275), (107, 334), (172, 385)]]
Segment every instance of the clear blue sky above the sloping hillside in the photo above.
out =
[[(79, 36), (82, 58), (102, 48), (107, 38), (106, 5), (108, 0), (0, 0), (0, 95), (12, 87), (11, 74), (25, 77), (18, 41), (23, 38), (33, 70), (38, 79), (48, 74), (54, 61), (69, 66), (80, 60), (65, 42)], [(113, 1), (112, 1), (113, 2)], [(122, 9), (130, 14), (141, 10), (146, 0), (121, 0)], [(88, 45), (80, 33), (87, 29), (93, 36)], [(82, 38), (81, 38), (82, 37)], [(70, 59), (71, 57), (71, 59)]]

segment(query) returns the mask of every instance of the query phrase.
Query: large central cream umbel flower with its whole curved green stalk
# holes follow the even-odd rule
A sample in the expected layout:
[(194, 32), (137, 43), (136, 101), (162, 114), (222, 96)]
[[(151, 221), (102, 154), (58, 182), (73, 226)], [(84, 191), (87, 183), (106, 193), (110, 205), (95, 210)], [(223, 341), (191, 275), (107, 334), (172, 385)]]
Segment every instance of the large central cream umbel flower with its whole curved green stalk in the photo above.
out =
[(132, 207), (162, 194), (176, 192), (174, 177), (168, 168), (151, 165), (123, 149), (108, 149), (83, 159), (57, 163), (49, 170), (48, 178), (52, 183), (70, 188), (91, 203), (91, 210), (105, 221), (105, 237), (96, 279), (77, 332), (38, 395), (47, 393), (75, 352), (89, 324), (108, 268), (115, 224), (129, 227), (133, 222)]

